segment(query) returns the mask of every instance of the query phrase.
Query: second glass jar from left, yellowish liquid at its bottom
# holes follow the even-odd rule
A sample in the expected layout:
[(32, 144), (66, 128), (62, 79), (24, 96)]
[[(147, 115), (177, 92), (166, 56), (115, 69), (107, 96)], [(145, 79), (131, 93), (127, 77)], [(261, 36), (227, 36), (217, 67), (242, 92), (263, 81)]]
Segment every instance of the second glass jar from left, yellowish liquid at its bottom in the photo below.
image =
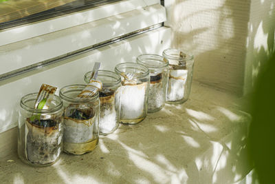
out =
[(99, 92), (91, 98), (78, 99), (86, 85), (67, 85), (59, 96), (64, 103), (63, 152), (85, 154), (98, 145)]

